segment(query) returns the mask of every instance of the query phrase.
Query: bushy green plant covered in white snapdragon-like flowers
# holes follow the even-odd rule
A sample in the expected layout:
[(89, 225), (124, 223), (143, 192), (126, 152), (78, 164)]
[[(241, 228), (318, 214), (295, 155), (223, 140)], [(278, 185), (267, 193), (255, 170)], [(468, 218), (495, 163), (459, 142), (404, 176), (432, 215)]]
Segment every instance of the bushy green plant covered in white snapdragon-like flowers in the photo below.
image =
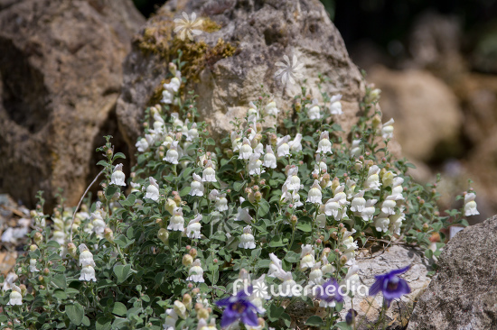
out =
[[(393, 157), (378, 89), (366, 88), (350, 132), (340, 95), (320, 87), (318, 101), (302, 87), (279, 109), (261, 92), (216, 142), (183, 65), (180, 52), (162, 104), (145, 110), (129, 179), (108, 136), (97, 202), (44, 215), (39, 196), (33, 243), (4, 280), (1, 328), (281, 329), (295, 326), (296, 303), (322, 309), (307, 326), (351, 328), (338, 289), (361, 295), (359, 249), (403, 242), (436, 258), (441, 230), (477, 213), (472, 189), (463, 209), (440, 212), (436, 184), (417, 184)], [(371, 287), (385, 308), (408, 293), (406, 270)]]

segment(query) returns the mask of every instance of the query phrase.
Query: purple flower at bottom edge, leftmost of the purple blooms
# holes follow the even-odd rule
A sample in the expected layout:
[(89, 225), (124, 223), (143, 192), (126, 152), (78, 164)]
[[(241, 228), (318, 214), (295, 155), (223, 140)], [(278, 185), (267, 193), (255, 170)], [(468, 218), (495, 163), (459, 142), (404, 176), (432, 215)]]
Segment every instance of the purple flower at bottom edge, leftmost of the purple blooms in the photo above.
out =
[[(258, 326), (257, 307), (248, 300), (245, 292), (241, 290), (236, 296), (216, 301), (217, 306), (226, 307), (220, 319), (221, 327), (227, 327), (238, 320), (245, 325)], [(252, 287), (248, 288), (247, 293), (252, 294)]]

